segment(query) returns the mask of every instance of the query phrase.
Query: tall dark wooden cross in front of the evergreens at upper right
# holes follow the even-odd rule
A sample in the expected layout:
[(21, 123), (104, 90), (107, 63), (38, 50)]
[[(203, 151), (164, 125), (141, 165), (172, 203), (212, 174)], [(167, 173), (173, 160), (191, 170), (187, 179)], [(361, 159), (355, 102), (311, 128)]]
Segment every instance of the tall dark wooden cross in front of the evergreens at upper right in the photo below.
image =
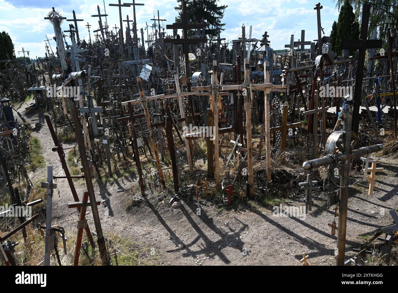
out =
[(354, 88), (354, 109), (352, 117), (353, 132), (358, 133), (359, 129), (359, 107), (361, 106), (362, 98), (362, 81), (363, 81), (363, 68), (365, 65), (365, 54), (366, 49), (380, 48), (382, 46), (382, 40), (378, 39), (367, 39), (368, 27), (369, 27), (369, 16), (370, 16), (371, 5), (364, 3), (362, 6), (362, 18), (361, 18), (361, 35), (359, 40), (342, 40), (341, 49), (358, 49), (357, 58), (357, 74), (355, 77), (355, 88)]

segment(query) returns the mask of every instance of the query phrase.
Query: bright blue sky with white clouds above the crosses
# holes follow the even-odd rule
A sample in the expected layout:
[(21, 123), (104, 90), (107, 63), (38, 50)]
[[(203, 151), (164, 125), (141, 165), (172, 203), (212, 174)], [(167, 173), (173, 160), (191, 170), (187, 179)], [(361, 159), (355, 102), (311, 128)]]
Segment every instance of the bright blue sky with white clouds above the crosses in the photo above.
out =
[[(122, 0), (123, 2), (131, 2)], [(136, 0), (144, 6), (136, 6), (137, 26), (144, 28), (145, 22), (150, 24), (153, 12), (157, 16), (160, 10), (160, 18), (166, 19), (163, 24), (172, 24), (177, 16), (174, 6), (176, 0)], [(108, 6), (109, 3), (117, 3), (117, 0), (105, 0), (108, 24), (114, 27), (119, 26), (119, 10), (117, 7)], [(252, 26), (252, 37), (261, 39), (264, 31), (268, 31), (269, 40), (273, 49), (283, 49), (285, 44), (290, 43), (290, 36), (295, 35), (295, 40), (300, 38), (301, 29), (305, 29), (305, 40), (314, 40), (316, 35), (316, 10), (314, 6), (317, 2), (309, 0), (284, 0), (269, 1), (263, 0), (220, 0), (220, 4), (227, 4), (223, 22), (226, 23), (225, 31), (221, 37), (231, 41), (240, 36), (242, 24), (246, 26), (248, 35), (249, 28)], [(103, 0), (0, 0), (0, 31), (7, 31), (15, 45), (16, 51), (22, 47), (30, 51), (30, 57), (44, 56), (45, 43), (43, 40), (47, 35), (49, 38), (54, 36), (52, 25), (44, 19), (51, 7), (55, 7), (62, 16), (72, 17), (72, 10), (75, 10), (76, 17), (84, 19), (79, 22), (80, 38), (88, 39), (88, 31), (84, 27), (87, 22), (93, 27), (90, 31), (98, 28), (98, 18), (91, 15), (97, 14), (97, 5), (100, 5), (101, 13), (104, 13)], [(321, 22), (325, 35), (330, 34), (334, 20), (338, 18), (336, 2), (327, 0), (321, 2)], [(123, 19), (127, 14), (130, 20), (133, 19), (133, 8), (122, 8)], [(68, 29), (69, 22), (62, 24), (62, 29)], [(151, 28), (149, 28), (152, 31)], [(168, 31), (172, 34), (172, 31)], [(93, 36), (93, 33), (92, 33)], [(146, 39), (146, 31), (144, 31)], [(68, 39), (67, 39), (68, 40)], [(55, 41), (51, 41), (51, 46), (55, 49)], [(18, 56), (18, 53), (17, 53)], [(21, 56), (21, 55), (19, 55)]]

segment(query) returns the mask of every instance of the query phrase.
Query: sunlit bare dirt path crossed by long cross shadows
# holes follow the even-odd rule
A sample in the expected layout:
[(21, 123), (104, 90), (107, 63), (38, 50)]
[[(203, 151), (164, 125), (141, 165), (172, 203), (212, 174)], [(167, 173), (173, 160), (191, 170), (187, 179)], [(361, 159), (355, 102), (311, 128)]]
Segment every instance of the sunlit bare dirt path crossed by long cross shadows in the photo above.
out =
[[(48, 165), (53, 165), (54, 175), (63, 175), (56, 153), (51, 151), (53, 141), (42, 113), (26, 115), (26, 105), (19, 111), (31, 122), (43, 124), (37, 136), (43, 146)], [(72, 147), (64, 144), (65, 153)], [(388, 210), (398, 207), (398, 165), (393, 158), (377, 158), (384, 167), (375, 183), (374, 195), (367, 195), (368, 183), (356, 182), (349, 189), (346, 254), (353, 256), (353, 247), (363, 242), (361, 233), (377, 230), (392, 222)], [(45, 174), (43, 170), (43, 176)], [(37, 177), (37, 175), (35, 175)], [(361, 180), (361, 173), (351, 176), (351, 183)], [(68, 209), (72, 195), (66, 179), (58, 179), (58, 189), (53, 199), (55, 222), (74, 233), (77, 213)], [(330, 233), (328, 223), (334, 220), (334, 206), (326, 208), (321, 193), (314, 196), (314, 206), (305, 218), (280, 217), (273, 209), (255, 204), (237, 206), (237, 209), (217, 210), (211, 203), (189, 203), (182, 200), (181, 209), (172, 209), (169, 198), (162, 193), (150, 192), (144, 203), (128, 208), (132, 195), (131, 184), (135, 178), (125, 177), (100, 186), (94, 183), (104, 232), (119, 233), (153, 248), (163, 264), (171, 265), (298, 265), (304, 252), (310, 264), (335, 264), (336, 236)], [(79, 197), (84, 183), (76, 184)], [(138, 190), (138, 188), (136, 189)], [(325, 197), (323, 197), (325, 198)], [(289, 205), (302, 205), (290, 202)], [(109, 208), (109, 215), (105, 207)], [(92, 214), (87, 218), (94, 229)], [(337, 219), (336, 219), (337, 222)], [(246, 253), (246, 254), (245, 254)]]

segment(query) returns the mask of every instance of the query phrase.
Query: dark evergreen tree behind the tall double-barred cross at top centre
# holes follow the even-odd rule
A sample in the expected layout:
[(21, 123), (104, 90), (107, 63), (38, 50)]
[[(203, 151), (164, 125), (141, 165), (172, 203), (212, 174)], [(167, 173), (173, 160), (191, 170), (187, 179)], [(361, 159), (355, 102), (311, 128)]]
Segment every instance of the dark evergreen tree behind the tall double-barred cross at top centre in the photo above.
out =
[[(178, 2), (175, 7), (179, 11), (177, 22), (181, 21), (181, 0)], [(205, 36), (210, 39), (218, 37), (218, 29), (223, 31), (225, 26), (221, 20), (228, 5), (218, 5), (217, 2), (219, 0), (187, 0), (188, 21), (200, 24), (203, 19), (207, 23)], [(191, 30), (189, 34), (196, 34), (196, 31)]]

